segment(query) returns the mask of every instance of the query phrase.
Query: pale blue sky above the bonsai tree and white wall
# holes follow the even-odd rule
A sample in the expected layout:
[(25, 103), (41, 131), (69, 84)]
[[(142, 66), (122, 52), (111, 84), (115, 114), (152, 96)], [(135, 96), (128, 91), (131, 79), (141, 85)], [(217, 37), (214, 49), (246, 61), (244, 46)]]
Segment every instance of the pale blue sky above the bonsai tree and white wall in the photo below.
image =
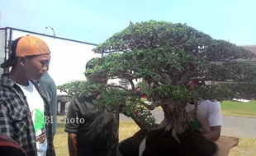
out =
[(0, 0), (2, 27), (100, 44), (132, 21), (187, 23), (214, 39), (256, 44), (254, 0)]

